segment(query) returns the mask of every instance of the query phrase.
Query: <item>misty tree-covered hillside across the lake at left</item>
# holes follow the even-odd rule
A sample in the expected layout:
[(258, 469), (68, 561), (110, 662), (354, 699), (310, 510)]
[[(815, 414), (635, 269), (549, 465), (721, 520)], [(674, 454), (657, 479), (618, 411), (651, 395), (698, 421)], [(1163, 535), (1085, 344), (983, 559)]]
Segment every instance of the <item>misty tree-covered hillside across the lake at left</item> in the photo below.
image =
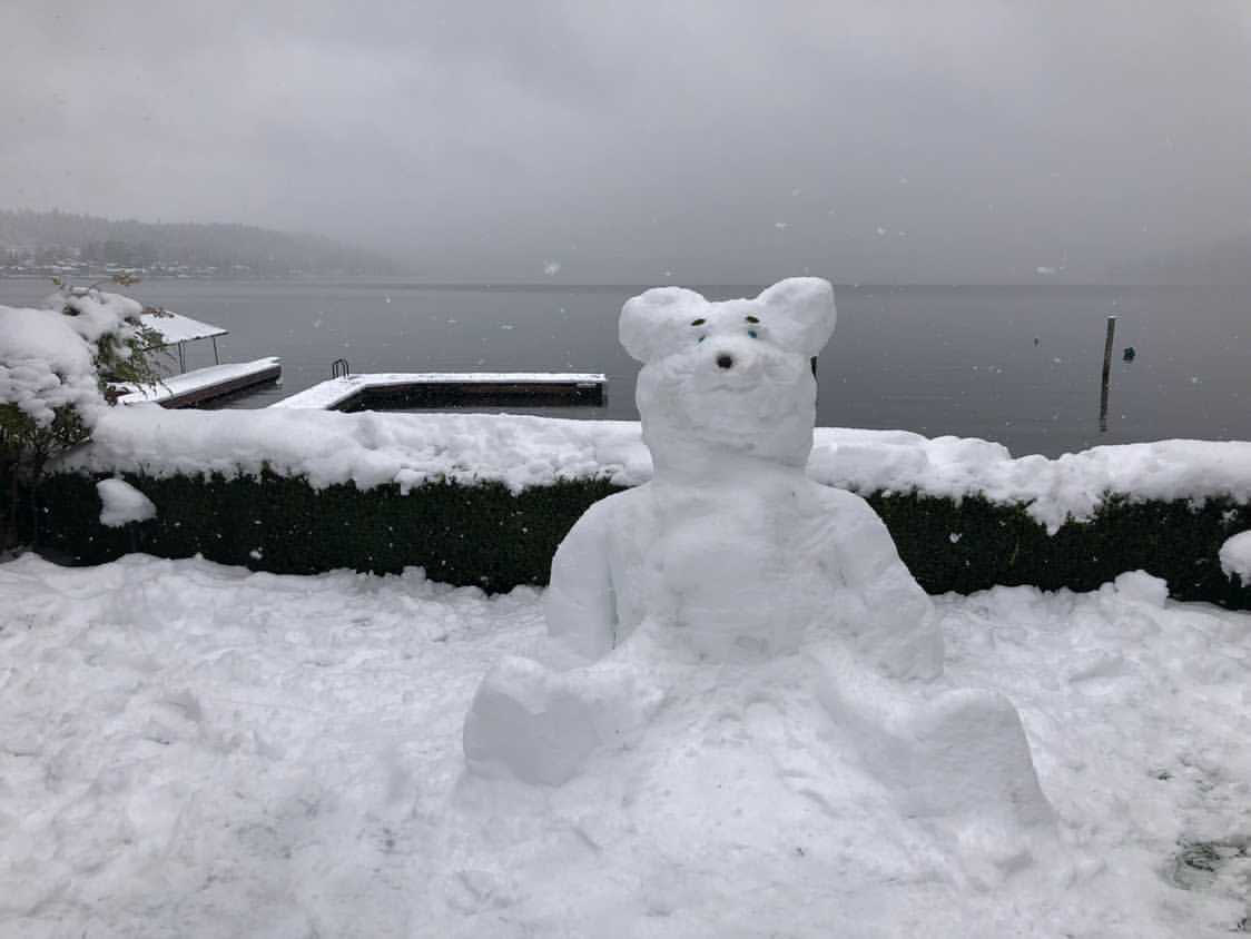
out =
[(388, 258), (320, 235), (251, 225), (153, 224), (0, 210), (0, 271), (40, 274), (50, 268), (106, 266), (200, 276), (398, 273)]

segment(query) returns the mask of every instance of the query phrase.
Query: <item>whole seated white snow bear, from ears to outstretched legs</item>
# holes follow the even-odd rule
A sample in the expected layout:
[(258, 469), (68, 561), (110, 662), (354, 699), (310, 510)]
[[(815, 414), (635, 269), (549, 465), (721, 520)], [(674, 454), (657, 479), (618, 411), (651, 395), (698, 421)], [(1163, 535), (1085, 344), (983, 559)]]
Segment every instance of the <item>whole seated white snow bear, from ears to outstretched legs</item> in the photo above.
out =
[(624, 305), (654, 476), (593, 505), (562, 543), (550, 646), (483, 681), (464, 729), (470, 771), (559, 785), (646, 733), (692, 680), (674, 668), (747, 675), (798, 658), (814, 686), (797, 693), (824, 705), (907, 814), (1050, 819), (1012, 705), (940, 679), (932, 604), (881, 519), (806, 475), (809, 363), (834, 316), (816, 278), (754, 299), (661, 288)]

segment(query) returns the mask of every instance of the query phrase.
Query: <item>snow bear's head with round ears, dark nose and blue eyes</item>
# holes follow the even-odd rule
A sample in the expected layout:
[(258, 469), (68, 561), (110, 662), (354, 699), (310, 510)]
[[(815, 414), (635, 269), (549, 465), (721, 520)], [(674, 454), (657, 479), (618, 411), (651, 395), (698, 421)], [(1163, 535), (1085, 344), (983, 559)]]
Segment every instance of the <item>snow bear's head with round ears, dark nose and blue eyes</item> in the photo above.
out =
[(819, 278), (724, 303), (683, 288), (628, 300), (620, 341), (643, 363), (634, 398), (657, 471), (708, 450), (804, 465), (817, 401), (809, 361), (834, 319), (834, 291)]

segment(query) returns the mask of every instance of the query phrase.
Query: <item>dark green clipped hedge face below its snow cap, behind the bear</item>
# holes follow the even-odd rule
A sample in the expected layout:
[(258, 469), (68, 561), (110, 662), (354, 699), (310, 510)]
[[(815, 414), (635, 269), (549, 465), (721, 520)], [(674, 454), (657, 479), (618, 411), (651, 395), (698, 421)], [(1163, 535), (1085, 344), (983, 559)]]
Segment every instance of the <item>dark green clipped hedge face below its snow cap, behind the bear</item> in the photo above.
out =
[[(128, 483), (156, 504), (155, 519), (99, 523), (98, 478), (60, 474), (36, 494), (36, 550), (66, 564), (100, 564), (128, 551), (200, 554), (280, 574), (349, 568), (378, 574), (425, 568), (435, 580), (488, 591), (547, 583), (552, 555), (592, 503), (619, 491), (602, 479), (558, 480), (512, 494), (499, 483), (432, 481), (314, 489), (265, 471), (239, 478), (151, 478)], [(921, 494), (869, 498), (899, 554), (929, 593), (972, 593), (995, 584), (1091, 590), (1127, 570), (1163, 578), (1183, 600), (1251, 609), (1251, 588), (1220, 568), (1221, 544), (1251, 529), (1251, 505), (1110, 498), (1090, 521), (1055, 535), (1023, 505), (983, 498), (960, 503)]]

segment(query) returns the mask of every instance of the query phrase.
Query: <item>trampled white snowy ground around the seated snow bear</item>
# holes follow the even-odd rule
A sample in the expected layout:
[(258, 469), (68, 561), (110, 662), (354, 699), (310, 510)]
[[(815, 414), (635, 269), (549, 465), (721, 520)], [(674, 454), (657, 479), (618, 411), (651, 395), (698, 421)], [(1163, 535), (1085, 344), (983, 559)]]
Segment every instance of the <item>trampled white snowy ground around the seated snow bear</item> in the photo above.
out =
[(542, 633), (538, 591), (23, 556), (0, 935), (1228, 935), (1251, 615), (1162, 594), (938, 600), (948, 671), (1013, 699), (1061, 818), (1055, 864), (987, 886), (762, 683), (559, 790), (464, 778), (467, 705)]

